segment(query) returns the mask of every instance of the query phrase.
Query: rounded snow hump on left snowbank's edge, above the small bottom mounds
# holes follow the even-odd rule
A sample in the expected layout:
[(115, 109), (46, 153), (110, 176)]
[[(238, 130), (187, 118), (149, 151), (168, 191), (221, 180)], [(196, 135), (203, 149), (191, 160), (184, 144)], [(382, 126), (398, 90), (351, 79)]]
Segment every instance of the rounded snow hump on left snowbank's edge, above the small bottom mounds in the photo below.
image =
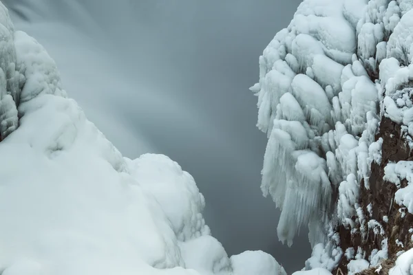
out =
[(178, 241), (210, 234), (202, 217), (204, 197), (189, 173), (164, 155), (141, 155), (128, 162), (132, 177), (164, 209)]

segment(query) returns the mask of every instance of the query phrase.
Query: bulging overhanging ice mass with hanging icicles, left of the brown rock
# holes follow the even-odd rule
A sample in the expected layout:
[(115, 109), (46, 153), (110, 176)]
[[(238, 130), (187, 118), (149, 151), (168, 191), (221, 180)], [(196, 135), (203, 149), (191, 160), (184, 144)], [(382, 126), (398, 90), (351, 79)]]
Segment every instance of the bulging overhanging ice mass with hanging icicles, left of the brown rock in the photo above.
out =
[(301, 3), (264, 50), (260, 82), (251, 88), (257, 125), (268, 134), (262, 190), (282, 210), (277, 231), (288, 244), (301, 225), (309, 226), (312, 245), (324, 241), (334, 190), (341, 186), (338, 208), (346, 221), (368, 176), (358, 159), (368, 157), (374, 141), (379, 94), (356, 53), (370, 62), (377, 43), (372, 50), (357, 39), (366, 1), (338, 2)]

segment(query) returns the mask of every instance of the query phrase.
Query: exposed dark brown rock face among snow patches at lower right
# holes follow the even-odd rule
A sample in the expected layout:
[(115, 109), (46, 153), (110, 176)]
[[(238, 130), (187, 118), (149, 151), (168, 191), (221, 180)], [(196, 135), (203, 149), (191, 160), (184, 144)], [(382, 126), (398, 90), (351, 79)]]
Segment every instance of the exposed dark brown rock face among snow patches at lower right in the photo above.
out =
[[(383, 139), (382, 162), (381, 164), (372, 163), (369, 179), (370, 189), (366, 188), (363, 180), (360, 184), (359, 204), (366, 219), (358, 223), (355, 232), (351, 232), (350, 228), (345, 228), (343, 225), (337, 228), (337, 231), (340, 236), (341, 249), (345, 252), (348, 248), (354, 248), (354, 251), (357, 252), (361, 248), (366, 253), (364, 259), (369, 259), (374, 249), (381, 250), (382, 242), (387, 239), (388, 259), (394, 261), (397, 252), (413, 247), (412, 233), (409, 232), (410, 228), (413, 227), (413, 215), (394, 202), (394, 193), (398, 187), (383, 180), (384, 168), (389, 162), (412, 160), (413, 151), (402, 135), (401, 125), (389, 118), (383, 117), (381, 120), (376, 140), (379, 140), (380, 137)], [(407, 186), (407, 181), (403, 180), (400, 188), (405, 186)], [(371, 212), (368, 210), (370, 203)], [(383, 217), (388, 217), (387, 222)], [(353, 220), (355, 221), (356, 218), (353, 217)], [(383, 234), (377, 234), (374, 232), (374, 228), (368, 228), (369, 220), (377, 221), (383, 227)], [(361, 232), (366, 232), (366, 234), (363, 236)], [(396, 240), (398, 240), (399, 245), (396, 244)], [(340, 269), (346, 274), (348, 262), (346, 256), (343, 256), (337, 270)], [(333, 271), (333, 274), (336, 274), (337, 270)], [(383, 271), (381, 274), (385, 274)]]

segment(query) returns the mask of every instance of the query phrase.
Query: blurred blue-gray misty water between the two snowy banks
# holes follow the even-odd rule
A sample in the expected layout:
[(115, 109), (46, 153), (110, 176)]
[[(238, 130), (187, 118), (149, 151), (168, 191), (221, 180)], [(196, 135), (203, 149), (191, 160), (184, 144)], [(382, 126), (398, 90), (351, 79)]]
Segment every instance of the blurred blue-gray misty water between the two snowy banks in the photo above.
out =
[(262, 50), (299, 0), (3, 2), (125, 156), (164, 153), (195, 177), (229, 255), (264, 250), (289, 272), (304, 266), (306, 232), (292, 248), (279, 243), (279, 212), (261, 194), (266, 135), (248, 91)]

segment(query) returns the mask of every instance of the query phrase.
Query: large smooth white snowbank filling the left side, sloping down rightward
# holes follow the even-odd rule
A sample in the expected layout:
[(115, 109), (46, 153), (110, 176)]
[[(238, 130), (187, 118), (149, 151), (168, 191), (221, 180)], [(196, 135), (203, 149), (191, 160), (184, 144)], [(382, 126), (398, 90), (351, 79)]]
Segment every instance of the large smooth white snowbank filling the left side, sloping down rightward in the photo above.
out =
[(264, 252), (227, 256), (176, 162), (124, 158), (1, 3), (0, 34), (1, 274), (285, 274)]

